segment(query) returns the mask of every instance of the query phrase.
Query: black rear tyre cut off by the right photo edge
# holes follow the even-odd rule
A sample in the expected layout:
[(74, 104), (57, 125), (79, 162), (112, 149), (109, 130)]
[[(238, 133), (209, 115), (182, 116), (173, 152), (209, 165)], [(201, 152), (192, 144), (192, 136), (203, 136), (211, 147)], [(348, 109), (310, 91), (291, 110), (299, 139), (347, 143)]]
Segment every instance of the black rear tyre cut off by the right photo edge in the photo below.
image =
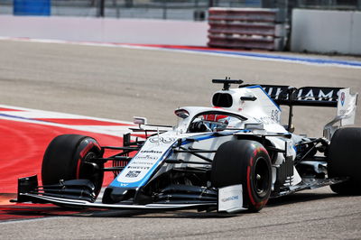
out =
[(334, 192), (361, 195), (361, 128), (340, 128), (333, 134), (329, 145), (328, 171), (329, 178), (349, 178), (331, 185)]

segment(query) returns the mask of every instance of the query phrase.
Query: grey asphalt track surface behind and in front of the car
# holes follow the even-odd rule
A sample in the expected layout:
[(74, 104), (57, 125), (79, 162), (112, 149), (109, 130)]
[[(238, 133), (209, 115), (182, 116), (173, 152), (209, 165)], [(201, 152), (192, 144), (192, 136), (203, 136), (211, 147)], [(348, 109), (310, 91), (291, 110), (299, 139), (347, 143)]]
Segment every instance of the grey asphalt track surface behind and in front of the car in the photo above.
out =
[[(178, 106), (208, 106), (211, 78), (246, 83), (350, 87), (361, 93), (361, 69), (247, 60), (170, 51), (0, 41), (0, 103), (79, 115), (175, 124)], [(335, 109), (296, 109), (296, 132), (319, 136)], [(356, 125), (361, 125), (361, 109)], [(1, 239), (253, 238), (359, 239), (361, 197), (328, 187), (271, 200), (256, 214), (219, 216), (94, 211), (71, 217), (0, 223)]]

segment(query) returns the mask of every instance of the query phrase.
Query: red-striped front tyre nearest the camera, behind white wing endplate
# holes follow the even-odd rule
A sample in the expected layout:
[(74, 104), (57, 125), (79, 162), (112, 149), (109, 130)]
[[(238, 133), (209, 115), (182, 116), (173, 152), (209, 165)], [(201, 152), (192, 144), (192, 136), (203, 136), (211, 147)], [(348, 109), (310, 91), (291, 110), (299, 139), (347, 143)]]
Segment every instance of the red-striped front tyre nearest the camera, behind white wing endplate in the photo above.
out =
[(271, 194), (272, 169), (261, 143), (229, 141), (219, 146), (212, 162), (211, 183), (216, 188), (242, 184), (244, 208), (257, 212)]

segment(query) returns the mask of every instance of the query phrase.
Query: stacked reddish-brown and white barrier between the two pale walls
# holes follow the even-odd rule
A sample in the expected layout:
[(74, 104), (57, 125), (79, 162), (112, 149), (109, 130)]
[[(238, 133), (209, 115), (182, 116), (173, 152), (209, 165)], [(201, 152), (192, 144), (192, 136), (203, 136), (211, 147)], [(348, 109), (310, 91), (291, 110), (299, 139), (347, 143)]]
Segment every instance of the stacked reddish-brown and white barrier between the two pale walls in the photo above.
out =
[(209, 8), (208, 46), (282, 51), (284, 14), (270, 8)]

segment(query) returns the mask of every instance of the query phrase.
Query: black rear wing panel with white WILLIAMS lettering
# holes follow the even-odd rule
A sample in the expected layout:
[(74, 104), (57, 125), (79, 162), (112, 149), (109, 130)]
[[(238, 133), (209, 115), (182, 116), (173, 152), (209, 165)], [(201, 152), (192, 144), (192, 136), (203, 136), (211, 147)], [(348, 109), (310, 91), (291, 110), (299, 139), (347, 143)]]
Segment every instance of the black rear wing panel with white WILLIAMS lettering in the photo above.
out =
[(345, 88), (261, 85), (278, 105), (287, 106), (338, 106), (338, 92)]

